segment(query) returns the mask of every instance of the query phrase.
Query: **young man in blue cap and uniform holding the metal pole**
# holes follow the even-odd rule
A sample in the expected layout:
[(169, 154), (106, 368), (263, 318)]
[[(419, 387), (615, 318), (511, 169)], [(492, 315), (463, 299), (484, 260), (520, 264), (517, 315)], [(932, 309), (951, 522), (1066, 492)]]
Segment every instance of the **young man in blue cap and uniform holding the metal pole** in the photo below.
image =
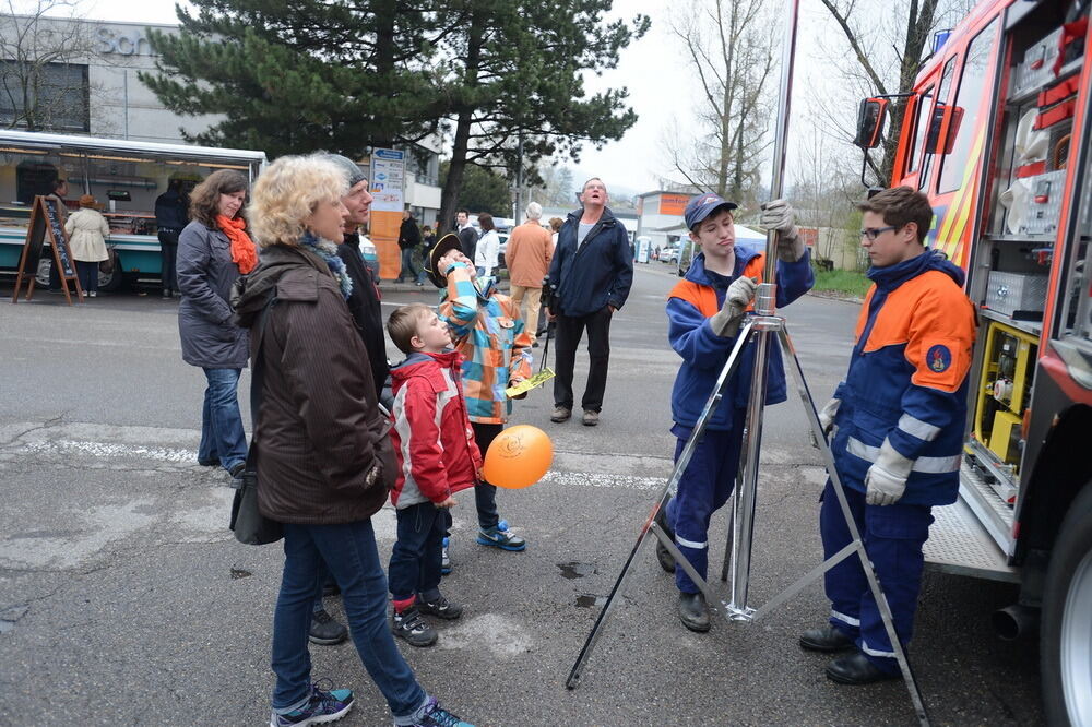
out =
[[(690, 200), (684, 213), (690, 239), (701, 247), (701, 252), (695, 255), (686, 277), (675, 286), (667, 300), (667, 335), (672, 348), (682, 358), (672, 390), (675, 421), (672, 433), (678, 438), (676, 461), (713, 393), (721, 369), (735, 345), (736, 334), (748, 314), (758, 288), (755, 276), (765, 266), (763, 252), (736, 246), (732, 214), (735, 208), (734, 202), (716, 194), (699, 194)], [(778, 230), (778, 306), (787, 306), (807, 293), (815, 282), (810, 257), (793, 224), (793, 210), (787, 203), (776, 200), (765, 205), (762, 224)], [(739, 468), (753, 357), (753, 344), (748, 344), (739, 369), (728, 381), (721, 405), (682, 473), (678, 492), (661, 512), (661, 527), (674, 538), (702, 577), (705, 577), (709, 562), (709, 520), (727, 502)], [(785, 372), (776, 346), (772, 347), (769, 372), (767, 403), (785, 401)], [(705, 597), (658, 541), (656, 555), (664, 570), (675, 572), (682, 625), (691, 631), (709, 631)]]

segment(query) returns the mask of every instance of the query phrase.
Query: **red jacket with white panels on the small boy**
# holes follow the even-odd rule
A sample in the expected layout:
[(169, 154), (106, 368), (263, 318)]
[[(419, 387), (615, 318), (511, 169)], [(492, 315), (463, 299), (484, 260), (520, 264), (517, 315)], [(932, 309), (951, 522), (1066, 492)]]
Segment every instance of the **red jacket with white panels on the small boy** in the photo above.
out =
[(473, 487), (482, 454), (466, 416), (458, 351), (412, 354), (391, 369), (399, 477), (391, 502), (403, 509), (443, 502)]

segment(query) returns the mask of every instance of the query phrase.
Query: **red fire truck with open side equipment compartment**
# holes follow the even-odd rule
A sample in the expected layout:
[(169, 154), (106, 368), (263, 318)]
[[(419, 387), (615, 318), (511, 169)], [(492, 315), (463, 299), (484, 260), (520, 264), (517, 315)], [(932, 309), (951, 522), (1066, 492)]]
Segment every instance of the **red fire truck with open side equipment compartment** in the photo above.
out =
[[(1040, 627), (1046, 717), (1092, 725), (1092, 69), (1089, 0), (985, 0), (902, 95), (892, 184), (978, 312), (959, 501), (930, 568), (1019, 584), (1002, 636)], [(880, 144), (890, 97), (860, 104)], [(892, 139), (895, 136), (891, 136)]]

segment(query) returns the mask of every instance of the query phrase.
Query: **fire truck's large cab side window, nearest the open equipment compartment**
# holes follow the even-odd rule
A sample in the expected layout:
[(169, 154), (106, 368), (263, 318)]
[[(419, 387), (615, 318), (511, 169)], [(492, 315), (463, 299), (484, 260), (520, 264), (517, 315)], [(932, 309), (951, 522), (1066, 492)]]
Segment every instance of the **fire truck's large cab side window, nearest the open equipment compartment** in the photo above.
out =
[[(948, 134), (951, 153), (941, 158), (940, 183), (937, 191), (940, 194), (952, 192), (963, 183), (966, 172), (966, 160), (971, 154), (971, 144), (976, 130), (985, 121), (989, 104), (983, 97), (986, 86), (987, 64), (997, 36), (997, 21), (986, 26), (971, 41), (963, 62), (963, 73), (959, 81), (959, 94), (956, 96), (954, 114), (951, 117)], [(954, 134), (954, 136), (951, 136)]]

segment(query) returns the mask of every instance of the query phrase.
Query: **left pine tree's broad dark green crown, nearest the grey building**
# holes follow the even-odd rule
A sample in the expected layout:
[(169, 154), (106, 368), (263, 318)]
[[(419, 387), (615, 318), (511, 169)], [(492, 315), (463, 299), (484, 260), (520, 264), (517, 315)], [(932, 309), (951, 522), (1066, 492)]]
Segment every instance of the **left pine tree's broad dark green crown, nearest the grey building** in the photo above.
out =
[(436, 129), (428, 0), (194, 0), (181, 33), (150, 34), (161, 73), (141, 80), (183, 115), (227, 118), (188, 141), (356, 156)]

